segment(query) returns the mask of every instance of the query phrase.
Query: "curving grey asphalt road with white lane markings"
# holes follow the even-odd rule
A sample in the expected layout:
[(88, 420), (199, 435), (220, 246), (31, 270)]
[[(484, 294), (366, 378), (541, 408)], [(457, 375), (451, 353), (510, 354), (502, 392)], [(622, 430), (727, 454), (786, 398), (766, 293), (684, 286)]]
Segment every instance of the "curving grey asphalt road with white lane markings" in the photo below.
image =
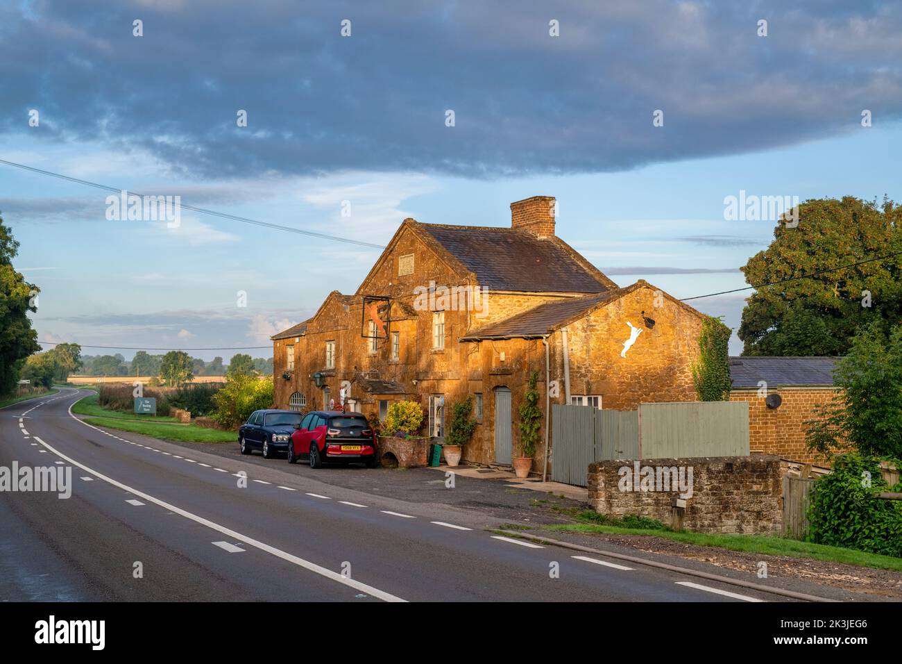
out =
[(0, 466), (72, 469), (69, 499), (0, 492), (0, 600), (780, 599), (499, 538), (484, 513), (336, 487), (284, 461), (101, 430), (69, 410), (87, 394), (0, 410)]

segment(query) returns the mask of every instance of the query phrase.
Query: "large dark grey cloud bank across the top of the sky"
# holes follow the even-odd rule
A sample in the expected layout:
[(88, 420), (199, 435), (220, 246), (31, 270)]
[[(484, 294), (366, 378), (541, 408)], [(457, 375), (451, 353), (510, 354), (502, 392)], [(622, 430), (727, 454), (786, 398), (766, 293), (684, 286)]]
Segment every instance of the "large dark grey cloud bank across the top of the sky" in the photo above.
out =
[(0, 132), (198, 177), (614, 171), (900, 117), (899, 33), (866, 0), (23, 0), (0, 7)]

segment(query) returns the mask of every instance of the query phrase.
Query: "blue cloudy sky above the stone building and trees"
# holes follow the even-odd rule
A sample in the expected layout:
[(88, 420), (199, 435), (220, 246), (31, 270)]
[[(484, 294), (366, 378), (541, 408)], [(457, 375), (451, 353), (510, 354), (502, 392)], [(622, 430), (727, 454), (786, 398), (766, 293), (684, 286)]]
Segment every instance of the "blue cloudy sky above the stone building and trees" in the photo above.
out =
[[(726, 197), (902, 201), (902, 6), (594, 5), (6, 2), (0, 159), (373, 245), (556, 196), (560, 238), (678, 298), (745, 286), (773, 238)], [(0, 164), (40, 341), (269, 357), (380, 253), (193, 210), (108, 220), (108, 193)], [(747, 295), (691, 304), (735, 329)]]

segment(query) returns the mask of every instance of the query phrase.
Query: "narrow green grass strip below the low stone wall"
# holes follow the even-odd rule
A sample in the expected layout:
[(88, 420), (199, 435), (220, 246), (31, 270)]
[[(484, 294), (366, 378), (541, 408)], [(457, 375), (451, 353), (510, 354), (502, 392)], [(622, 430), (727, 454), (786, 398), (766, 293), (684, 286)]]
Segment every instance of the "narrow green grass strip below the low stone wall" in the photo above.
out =
[(851, 548), (828, 547), (824, 544), (802, 542), (797, 539), (780, 538), (767, 535), (726, 535), (721, 533), (676, 532), (668, 529), (624, 528), (622, 526), (603, 526), (597, 523), (572, 523), (545, 526), (549, 530), (564, 530), (589, 534), (612, 535), (650, 535), (656, 538), (667, 538), (696, 547), (718, 547), (731, 551), (762, 554), (765, 556), (791, 556), (811, 558), (833, 563), (844, 563), (860, 567), (874, 567), (902, 572), (902, 559), (892, 556), (856, 551)]

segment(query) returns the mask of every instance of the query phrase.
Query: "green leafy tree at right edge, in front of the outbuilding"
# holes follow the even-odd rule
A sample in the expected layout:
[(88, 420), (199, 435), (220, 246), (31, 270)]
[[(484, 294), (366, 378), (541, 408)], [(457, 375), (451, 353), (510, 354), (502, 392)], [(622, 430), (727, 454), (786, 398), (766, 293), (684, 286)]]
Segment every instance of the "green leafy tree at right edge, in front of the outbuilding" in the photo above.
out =
[(842, 392), (815, 409), (806, 443), (819, 454), (854, 446), (902, 460), (902, 324), (887, 335), (875, 320), (855, 335), (833, 380)]

